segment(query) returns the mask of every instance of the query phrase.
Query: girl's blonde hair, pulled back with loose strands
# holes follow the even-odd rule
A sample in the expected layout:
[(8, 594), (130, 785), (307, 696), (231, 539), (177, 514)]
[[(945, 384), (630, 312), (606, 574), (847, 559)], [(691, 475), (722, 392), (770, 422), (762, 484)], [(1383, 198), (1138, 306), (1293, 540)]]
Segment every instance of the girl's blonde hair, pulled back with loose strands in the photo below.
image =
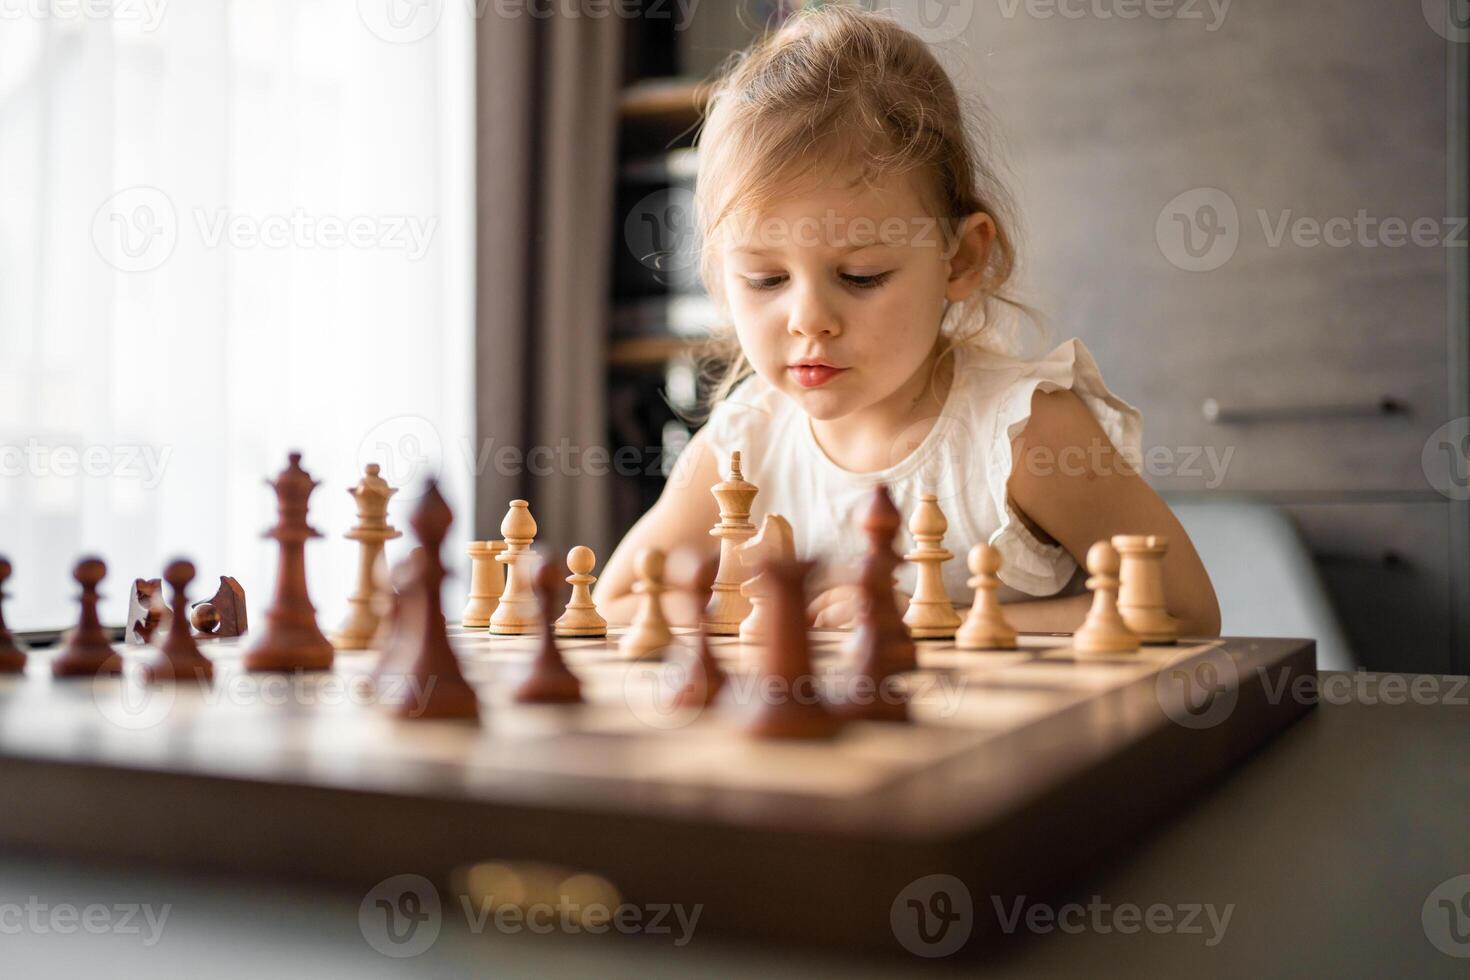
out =
[[(973, 112), (983, 116), (979, 106)], [(731, 56), (710, 91), (697, 145), (700, 275), (722, 309), (714, 242), (725, 222), (789, 194), (801, 178), (856, 165), (867, 181), (917, 175), (948, 248), (966, 216), (983, 212), (995, 222), (976, 298), (945, 310), (948, 348), (979, 342), (1003, 306), (1030, 314), (1007, 294), (1016, 217), (997, 165), (970, 141), (948, 73), (891, 16), (841, 4), (797, 12)], [(751, 373), (729, 326), (713, 332), (704, 363), (714, 381), (711, 404)]]

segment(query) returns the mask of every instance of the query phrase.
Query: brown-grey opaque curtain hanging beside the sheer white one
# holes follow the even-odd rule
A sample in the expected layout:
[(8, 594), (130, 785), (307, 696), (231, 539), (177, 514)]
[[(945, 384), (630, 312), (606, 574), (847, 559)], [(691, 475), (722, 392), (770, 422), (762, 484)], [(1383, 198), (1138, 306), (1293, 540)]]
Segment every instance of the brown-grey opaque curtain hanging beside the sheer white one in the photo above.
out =
[(623, 28), (563, 15), (487, 15), (476, 28), (475, 536), (500, 538), (522, 497), (537, 551), (585, 544), (600, 561), (610, 478), (585, 470), (607, 441)]

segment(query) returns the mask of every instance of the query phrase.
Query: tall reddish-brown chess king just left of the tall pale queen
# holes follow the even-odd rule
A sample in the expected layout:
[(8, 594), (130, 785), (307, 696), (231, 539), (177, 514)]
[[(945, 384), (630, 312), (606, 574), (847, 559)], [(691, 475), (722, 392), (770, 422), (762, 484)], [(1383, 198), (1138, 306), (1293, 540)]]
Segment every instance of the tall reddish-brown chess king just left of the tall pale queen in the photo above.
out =
[(245, 651), (245, 670), (331, 670), (332, 644), (316, 626), (316, 607), (306, 591), (306, 542), (320, 532), (306, 523), (307, 500), (318, 483), (293, 453), (275, 482), (276, 526), (266, 532), (279, 545), (276, 591), (266, 610), (266, 629)]

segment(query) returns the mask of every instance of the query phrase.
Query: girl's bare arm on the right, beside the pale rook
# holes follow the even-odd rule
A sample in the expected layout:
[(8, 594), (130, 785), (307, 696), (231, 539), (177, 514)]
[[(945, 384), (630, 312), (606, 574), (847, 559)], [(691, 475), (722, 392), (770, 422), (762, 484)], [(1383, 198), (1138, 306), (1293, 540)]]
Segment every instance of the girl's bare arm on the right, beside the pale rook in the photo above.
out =
[[(1032, 397), (1030, 419), (1011, 442), (1011, 501), (1082, 566), (1088, 548), (1113, 535), (1164, 535), (1169, 611), (1186, 636), (1217, 636), (1220, 604), (1179, 519), (1113, 447), (1076, 394)], [(1085, 566), (1083, 566), (1085, 567)], [(1019, 630), (1072, 632), (1089, 598), (1036, 599), (1005, 607)]]

